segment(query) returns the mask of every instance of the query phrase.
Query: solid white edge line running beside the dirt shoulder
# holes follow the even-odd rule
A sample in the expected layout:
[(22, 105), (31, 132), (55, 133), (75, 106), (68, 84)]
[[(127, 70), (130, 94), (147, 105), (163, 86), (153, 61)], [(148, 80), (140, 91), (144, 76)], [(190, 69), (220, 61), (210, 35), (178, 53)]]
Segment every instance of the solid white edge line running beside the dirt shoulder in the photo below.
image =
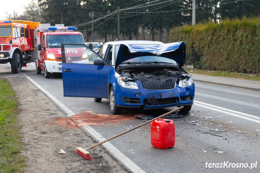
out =
[[(74, 113), (67, 108), (64, 104), (62, 104), (58, 99), (56, 99), (52, 94), (50, 94), (48, 91), (46, 91), (44, 88), (42, 88), (40, 85), (38, 85), (36, 82), (33, 81), (30, 77), (25, 75), (26, 78), (33, 83), (39, 90), (41, 90), (44, 94), (47, 95), (52, 101), (54, 101), (56, 104), (58, 104), (64, 112), (68, 115), (68, 117), (74, 115)], [(77, 120), (79, 123), (82, 120)], [(97, 141), (101, 142), (103, 140), (106, 140), (104, 137), (101, 136), (96, 130), (94, 130), (92, 127), (88, 125), (83, 125), (82, 126), (86, 131), (88, 131), (93, 137), (96, 138)], [(100, 138), (102, 137), (102, 138)], [(127, 156), (125, 156), (123, 153), (121, 153), (116, 147), (114, 147), (110, 142), (105, 142), (102, 144), (112, 155), (114, 155), (119, 162), (124, 164), (129, 170), (133, 171), (133, 173), (145, 173), (139, 166), (137, 166), (134, 162), (132, 162)]]

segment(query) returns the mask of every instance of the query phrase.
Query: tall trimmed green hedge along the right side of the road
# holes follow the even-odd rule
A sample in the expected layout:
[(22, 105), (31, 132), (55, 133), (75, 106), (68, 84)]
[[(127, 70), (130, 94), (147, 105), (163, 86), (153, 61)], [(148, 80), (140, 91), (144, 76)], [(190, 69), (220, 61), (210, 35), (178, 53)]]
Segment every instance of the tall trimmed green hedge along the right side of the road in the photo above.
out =
[(179, 41), (194, 68), (260, 74), (260, 17), (176, 27), (169, 42)]

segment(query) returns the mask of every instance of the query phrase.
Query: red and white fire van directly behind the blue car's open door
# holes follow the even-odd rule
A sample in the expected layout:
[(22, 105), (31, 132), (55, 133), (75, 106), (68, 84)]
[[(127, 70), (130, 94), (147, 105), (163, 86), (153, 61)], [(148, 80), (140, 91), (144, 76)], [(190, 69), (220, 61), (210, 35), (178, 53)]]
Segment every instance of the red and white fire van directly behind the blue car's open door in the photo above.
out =
[[(84, 44), (83, 36), (75, 31), (76, 27), (64, 27), (64, 24), (40, 24), (34, 31), (36, 45), (36, 73), (44, 71), (45, 78), (50, 78), (51, 73), (62, 73), (61, 44)], [(71, 50), (77, 54), (77, 50)]]

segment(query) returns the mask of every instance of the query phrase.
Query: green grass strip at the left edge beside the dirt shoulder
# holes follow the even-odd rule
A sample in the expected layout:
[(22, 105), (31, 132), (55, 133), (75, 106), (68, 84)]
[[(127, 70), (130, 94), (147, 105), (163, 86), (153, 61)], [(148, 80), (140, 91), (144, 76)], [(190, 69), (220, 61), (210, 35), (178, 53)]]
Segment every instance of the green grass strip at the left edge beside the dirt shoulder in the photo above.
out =
[(11, 85), (0, 79), (0, 173), (24, 172), (25, 157), (19, 153), (22, 143), (17, 125), (17, 101)]

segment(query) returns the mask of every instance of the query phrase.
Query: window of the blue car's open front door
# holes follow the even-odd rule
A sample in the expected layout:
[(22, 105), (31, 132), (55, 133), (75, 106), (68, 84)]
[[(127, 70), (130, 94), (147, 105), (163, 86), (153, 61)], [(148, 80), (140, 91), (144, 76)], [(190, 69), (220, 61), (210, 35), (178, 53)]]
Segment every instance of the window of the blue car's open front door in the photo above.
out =
[(96, 58), (101, 58), (95, 51), (85, 45), (62, 44), (62, 63), (94, 64)]

